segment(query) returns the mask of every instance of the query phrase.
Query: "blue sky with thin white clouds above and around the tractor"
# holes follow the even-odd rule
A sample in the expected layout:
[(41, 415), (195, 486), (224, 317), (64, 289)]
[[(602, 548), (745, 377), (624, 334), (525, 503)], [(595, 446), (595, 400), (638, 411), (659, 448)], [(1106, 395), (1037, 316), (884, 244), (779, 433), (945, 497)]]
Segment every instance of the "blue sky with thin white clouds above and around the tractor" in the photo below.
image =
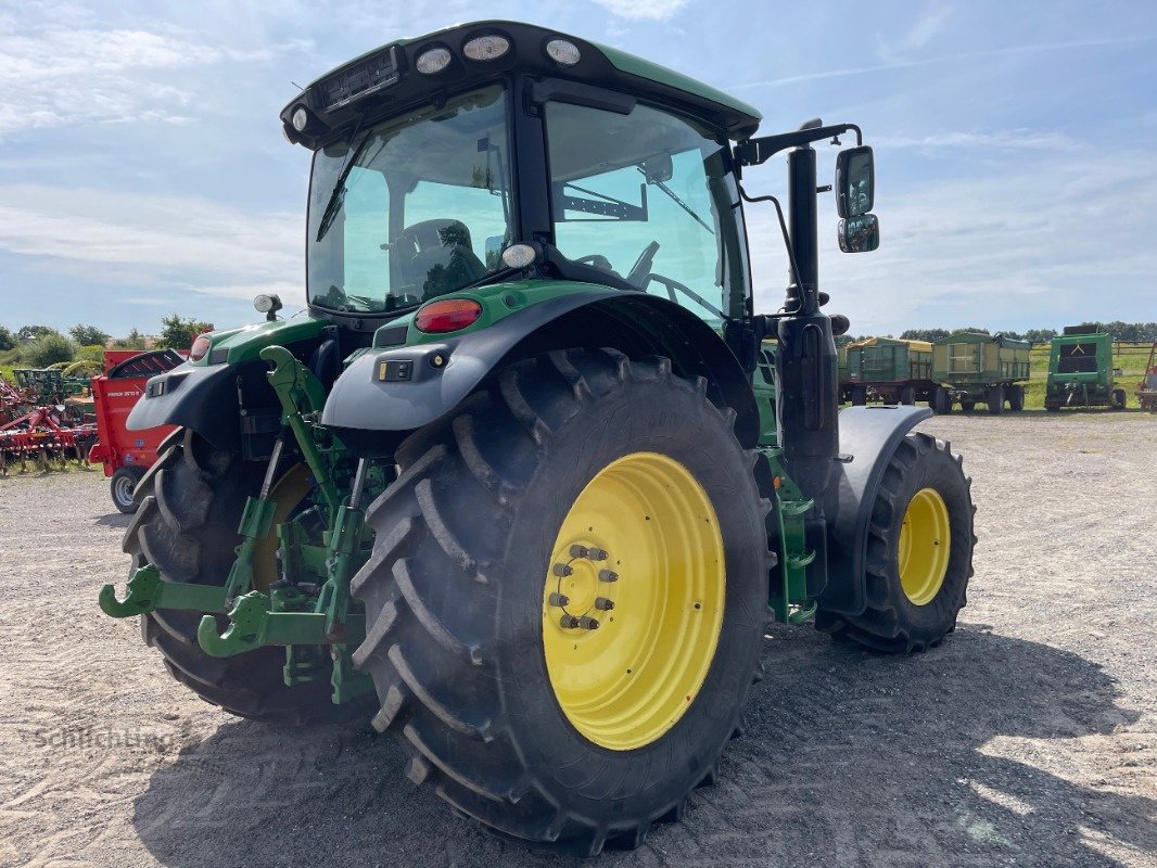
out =
[[(407, 8), (403, 8), (407, 7)], [(820, 281), (853, 332), (1157, 319), (1157, 3), (708, 0), (0, 1), (0, 324), (155, 331), (300, 304), (309, 154), (278, 111), (326, 69), (455, 22), (526, 20), (759, 106), (761, 132), (853, 122), (880, 250)], [(820, 152), (827, 175), (834, 148)], [(779, 160), (749, 171), (783, 190)], [(758, 307), (774, 215), (749, 211)]]

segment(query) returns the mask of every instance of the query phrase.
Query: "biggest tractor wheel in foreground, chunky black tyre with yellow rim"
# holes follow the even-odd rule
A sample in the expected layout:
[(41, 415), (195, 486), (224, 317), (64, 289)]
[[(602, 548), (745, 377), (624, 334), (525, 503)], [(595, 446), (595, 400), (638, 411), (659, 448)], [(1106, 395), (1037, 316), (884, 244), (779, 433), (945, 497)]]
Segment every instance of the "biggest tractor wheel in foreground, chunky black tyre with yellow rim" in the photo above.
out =
[(767, 620), (769, 505), (705, 389), (613, 351), (521, 362), (404, 442), (368, 510), (374, 727), (493, 831), (634, 847), (714, 779)]

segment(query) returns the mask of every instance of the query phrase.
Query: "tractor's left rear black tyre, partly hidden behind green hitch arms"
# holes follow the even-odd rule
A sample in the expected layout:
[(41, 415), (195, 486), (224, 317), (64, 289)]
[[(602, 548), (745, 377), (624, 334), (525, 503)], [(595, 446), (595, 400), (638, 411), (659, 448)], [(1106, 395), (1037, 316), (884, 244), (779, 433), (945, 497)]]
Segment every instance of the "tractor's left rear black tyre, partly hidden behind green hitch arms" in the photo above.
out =
[[(140, 508), (124, 540), (133, 568), (154, 564), (165, 581), (224, 584), (241, 543), (245, 499), (258, 493), (264, 472), (264, 464), (214, 450), (185, 431), (138, 484)], [(197, 642), (200, 619), (199, 612), (156, 610), (141, 617), (141, 635), (169, 674), (205, 701), (239, 718), (289, 724), (364, 711), (358, 704), (334, 706), (327, 679), (287, 687), (283, 648), (207, 655)]]

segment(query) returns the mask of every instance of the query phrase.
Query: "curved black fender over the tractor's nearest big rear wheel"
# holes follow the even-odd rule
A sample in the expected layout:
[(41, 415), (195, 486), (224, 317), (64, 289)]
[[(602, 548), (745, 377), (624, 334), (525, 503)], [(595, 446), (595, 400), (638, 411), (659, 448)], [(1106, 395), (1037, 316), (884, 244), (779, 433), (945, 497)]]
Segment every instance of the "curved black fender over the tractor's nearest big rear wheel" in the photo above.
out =
[[(436, 344), (371, 351), (334, 383), (322, 421), (362, 451), (447, 415), (493, 372), (517, 359), (566, 347), (613, 347), (665, 355), (681, 376), (703, 376), (717, 404), (736, 411), (736, 436), (753, 447), (759, 412), (750, 381), (710, 326), (678, 304), (591, 287), (511, 314), (480, 331)], [(399, 367), (400, 365), (400, 367)]]

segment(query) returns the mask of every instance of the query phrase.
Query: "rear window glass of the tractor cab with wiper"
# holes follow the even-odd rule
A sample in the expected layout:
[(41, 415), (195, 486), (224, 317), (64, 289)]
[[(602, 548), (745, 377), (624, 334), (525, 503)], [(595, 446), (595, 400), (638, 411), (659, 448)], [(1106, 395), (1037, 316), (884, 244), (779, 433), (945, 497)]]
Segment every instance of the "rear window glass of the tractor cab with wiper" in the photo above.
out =
[(502, 267), (513, 237), (499, 86), (392, 118), (314, 156), (309, 300), (383, 312)]

